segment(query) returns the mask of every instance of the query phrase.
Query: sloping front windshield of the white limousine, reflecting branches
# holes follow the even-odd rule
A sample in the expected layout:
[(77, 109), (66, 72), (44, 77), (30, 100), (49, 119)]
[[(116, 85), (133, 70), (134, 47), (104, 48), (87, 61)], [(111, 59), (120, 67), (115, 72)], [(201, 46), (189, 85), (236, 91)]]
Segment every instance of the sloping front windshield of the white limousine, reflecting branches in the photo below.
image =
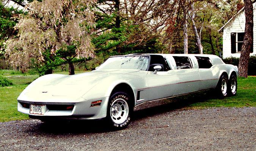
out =
[(117, 56), (108, 58), (98, 69), (148, 69), (149, 56)]

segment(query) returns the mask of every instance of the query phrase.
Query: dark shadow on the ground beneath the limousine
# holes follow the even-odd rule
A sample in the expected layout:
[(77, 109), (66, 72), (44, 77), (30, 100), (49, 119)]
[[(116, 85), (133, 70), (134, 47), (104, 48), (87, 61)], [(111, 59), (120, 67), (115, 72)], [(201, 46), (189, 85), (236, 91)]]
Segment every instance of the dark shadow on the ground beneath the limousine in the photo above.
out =
[[(195, 94), (155, 101), (153, 104), (141, 105), (133, 112), (132, 122), (148, 118), (157, 114), (175, 111), (177, 109), (188, 109), (193, 103), (204, 102), (208, 99), (215, 99), (212, 91), (203, 91)], [(134, 125), (129, 125), (134, 126)], [(128, 128), (129, 128), (128, 127)], [(74, 120), (74, 121), (52, 121), (38, 122), (29, 130), (47, 134), (81, 134), (81, 133), (106, 133), (116, 131), (107, 126), (105, 120)]]

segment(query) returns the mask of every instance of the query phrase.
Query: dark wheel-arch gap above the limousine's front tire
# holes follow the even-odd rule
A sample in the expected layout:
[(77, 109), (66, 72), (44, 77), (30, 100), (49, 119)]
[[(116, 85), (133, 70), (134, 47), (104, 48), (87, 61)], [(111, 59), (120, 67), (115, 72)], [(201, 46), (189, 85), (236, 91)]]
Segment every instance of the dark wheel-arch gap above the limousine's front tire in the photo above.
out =
[(113, 94), (115, 94), (115, 92), (126, 92), (132, 99), (132, 101), (130, 103), (132, 103), (132, 106), (134, 107), (135, 105), (135, 98), (134, 98), (134, 94), (133, 94), (133, 90), (132, 88), (126, 84), (126, 83), (120, 83), (118, 85), (115, 86), (115, 88), (112, 90), (110, 96), (112, 96)]

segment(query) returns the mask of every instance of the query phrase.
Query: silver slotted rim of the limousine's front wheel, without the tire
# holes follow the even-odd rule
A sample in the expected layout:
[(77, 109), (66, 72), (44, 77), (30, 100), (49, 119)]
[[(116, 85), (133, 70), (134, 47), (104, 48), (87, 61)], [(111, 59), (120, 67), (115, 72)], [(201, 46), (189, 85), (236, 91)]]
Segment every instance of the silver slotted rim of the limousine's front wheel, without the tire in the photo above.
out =
[(121, 124), (127, 120), (129, 106), (126, 100), (118, 98), (113, 101), (110, 107), (110, 117), (116, 124)]

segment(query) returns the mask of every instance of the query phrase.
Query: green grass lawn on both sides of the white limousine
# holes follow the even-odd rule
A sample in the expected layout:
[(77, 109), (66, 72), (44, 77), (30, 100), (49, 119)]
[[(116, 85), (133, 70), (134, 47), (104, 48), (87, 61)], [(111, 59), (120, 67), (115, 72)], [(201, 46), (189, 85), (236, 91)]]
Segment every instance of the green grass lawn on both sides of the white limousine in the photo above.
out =
[[(67, 72), (57, 72), (68, 74)], [(17, 97), (38, 75), (24, 75), (16, 71), (0, 70), (14, 85), (0, 87), (0, 122), (29, 119), (17, 111)], [(199, 92), (171, 99), (173, 108), (197, 109), (211, 107), (256, 107), (256, 77), (238, 78), (237, 95), (217, 99), (212, 91)], [(166, 100), (170, 101), (170, 100)]]

